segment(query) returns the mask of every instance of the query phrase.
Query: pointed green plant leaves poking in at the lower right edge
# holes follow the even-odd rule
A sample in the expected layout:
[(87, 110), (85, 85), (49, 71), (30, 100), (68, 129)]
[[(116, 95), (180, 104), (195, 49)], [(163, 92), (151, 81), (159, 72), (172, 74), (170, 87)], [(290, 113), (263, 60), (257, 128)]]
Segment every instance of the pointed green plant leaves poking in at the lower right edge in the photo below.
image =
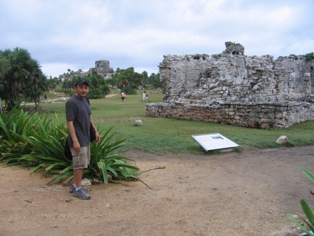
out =
[[(302, 166), (299, 166), (299, 168), (301, 169), (302, 172), (304, 172), (304, 174), (306, 176), (308, 176), (308, 179), (311, 179), (311, 181), (314, 182), (314, 175), (311, 174), (311, 172), (309, 172), (307, 169), (305, 169)], [(287, 218), (291, 221), (294, 221), (294, 223), (297, 223), (299, 228), (301, 228), (301, 230), (303, 230), (303, 232), (305, 232), (306, 235), (314, 236), (314, 213), (313, 213), (313, 210), (311, 209), (311, 207), (308, 206), (308, 204), (306, 203), (306, 201), (304, 199), (302, 199), (300, 201), (300, 203), (301, 203), (302, 210), (303, 210), (304, 214), (306, 215), (306, 217), (300, 216), (299, 214), (296, 214), (296, 215), (301, 218), (303, 223), (297, 221), (297, 219), (294, 218), (293, 216), (287, 216), (285, 218)], [(308, 228), (306, 228), (304, 225), (307, 225)]]

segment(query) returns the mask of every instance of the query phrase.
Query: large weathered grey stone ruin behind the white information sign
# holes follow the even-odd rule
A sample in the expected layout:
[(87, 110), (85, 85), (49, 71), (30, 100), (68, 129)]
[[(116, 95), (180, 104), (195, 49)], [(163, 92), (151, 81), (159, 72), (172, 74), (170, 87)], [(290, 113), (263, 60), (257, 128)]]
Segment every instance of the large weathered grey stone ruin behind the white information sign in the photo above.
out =
[(216, 55), (167, 55), (159, 64), (164, 101), (147, 104), (146, 115), (290, 127), (314, 119), (313, 66), (302, 55), (246, 56), (241, 44), (231, 42)]

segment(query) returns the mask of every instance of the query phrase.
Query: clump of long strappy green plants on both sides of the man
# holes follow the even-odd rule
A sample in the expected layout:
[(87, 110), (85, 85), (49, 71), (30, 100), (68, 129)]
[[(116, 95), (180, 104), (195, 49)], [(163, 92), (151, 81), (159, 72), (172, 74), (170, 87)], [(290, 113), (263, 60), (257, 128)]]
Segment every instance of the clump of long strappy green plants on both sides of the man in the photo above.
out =
[[(8, 117), (10, 116), (10, 117)], [(123, 146), (125, 139), (114, 140), (113, 129), (108, 129), (99, 144), (91, 144), (91, 162), (84, 169), (83, 176), (115, 182), (118, 179), (134, 180), (137, 167), (129, 165), (132, 160), (115, 154)], [(72, 160), (64, 155), (64, 144), (68, 130), (59, 123), (57, 115), (54, 123), (46, 115), (38, 113), (29, 116), (22, 109), (13, 109), (0, 116), (0, 160), (6, 167), (32, 167), (31, 173), (44, 168), (45, 174), (56, 174), (50, 183), (69, 182), (73, 179)], [(113, 179), (108, 179), (110, 174)]]

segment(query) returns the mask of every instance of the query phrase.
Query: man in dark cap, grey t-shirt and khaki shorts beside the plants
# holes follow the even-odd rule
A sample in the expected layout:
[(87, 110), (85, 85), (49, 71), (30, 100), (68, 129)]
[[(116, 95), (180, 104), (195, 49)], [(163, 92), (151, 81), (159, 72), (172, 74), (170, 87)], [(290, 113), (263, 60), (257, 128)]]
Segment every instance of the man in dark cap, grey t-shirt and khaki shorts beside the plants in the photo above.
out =
[(90, 199), (87, 189), (81, 186), (83, 169), (90, 164), (90, 125), (95, 130), (96, 142), (100, 141), (99, 133), (94, 121), (90, 106), (85, 99), (90, 92), (90, 83), (85, 79), (76, 81), (76, 94), (66, 102), (66, 125), (69, 128), (69, 146), (73, 155), (73, 196), (80, 199)]

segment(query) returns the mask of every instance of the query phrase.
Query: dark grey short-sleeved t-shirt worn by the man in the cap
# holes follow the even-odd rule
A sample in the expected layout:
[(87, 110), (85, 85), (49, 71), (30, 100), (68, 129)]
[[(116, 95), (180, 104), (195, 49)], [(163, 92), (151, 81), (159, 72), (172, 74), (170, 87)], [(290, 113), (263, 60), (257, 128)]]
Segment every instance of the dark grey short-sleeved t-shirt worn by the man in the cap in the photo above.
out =
[[(90, 145), (90, 106), (87, 100), (76, 95), (66, 102), (66, 120), (72, 120), (76, 137), (80, 146)], [(69, 146), (73, 148), (73, 140), (69, 135)]]

